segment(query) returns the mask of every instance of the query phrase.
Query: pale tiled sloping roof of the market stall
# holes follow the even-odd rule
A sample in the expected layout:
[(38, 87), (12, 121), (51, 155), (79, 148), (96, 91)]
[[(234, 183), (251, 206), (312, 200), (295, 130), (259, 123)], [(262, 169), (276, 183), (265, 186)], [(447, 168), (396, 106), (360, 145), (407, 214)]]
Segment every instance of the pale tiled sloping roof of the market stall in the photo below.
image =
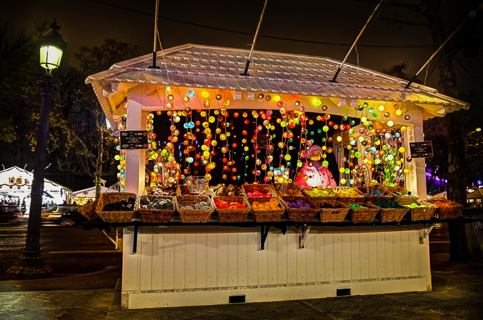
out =
[(424, 112), (423, 118), (443, 117), (446, 112), (468, 109), (469, 103), (447, 97), (437, 90), (359, 68), (346, 63), (337, 78), (331, 79), (341, 62), (326, 57), (255, 51), (250, 63), (250, 77), (244, 72), (249, 50), (186, 44), (157, 52), (159, 69), (152, 65), (152, 54), (115, 63), (109, 70), (92, 74), (92, 83), (101, 106), (112, 121), (110, 99), (104, 88), (110, 83), (143, 83), (190, 88), (211, 88), (279, 94), (298, 94), (328, 98), (400, 101), (422, 108), (440, 106), (437, 112)]

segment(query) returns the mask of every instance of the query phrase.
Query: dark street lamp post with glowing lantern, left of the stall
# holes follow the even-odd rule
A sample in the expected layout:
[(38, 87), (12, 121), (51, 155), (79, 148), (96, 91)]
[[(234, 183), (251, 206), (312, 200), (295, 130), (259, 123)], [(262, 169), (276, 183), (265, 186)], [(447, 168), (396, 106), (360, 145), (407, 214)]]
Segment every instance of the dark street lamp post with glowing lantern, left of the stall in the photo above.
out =
[(40, 66), (46, 69), (39, 84), (42, 88), (42, 101), (39, 119), (39, 132), (37, 133), (37, 147), (35, 148), (34, 179), (32, 181), (32, 195), (28, 217), (27, 239), (17, 263), (7, 270), (7, 276), (21, 279), (35, 279), (49, 277), (52, 268), (43, 261), (40, 252), (40, 220), (43, 196), (43, 174), (47, 153), (48, 128), (52, 94), (55, 90), (55, 81), (52, 70), (59, 68), (62, 52), (67, 43), (59, 34), (60, 26), (57, 20), (50, 24), (50, 30), (44, 35), (40, 44)]

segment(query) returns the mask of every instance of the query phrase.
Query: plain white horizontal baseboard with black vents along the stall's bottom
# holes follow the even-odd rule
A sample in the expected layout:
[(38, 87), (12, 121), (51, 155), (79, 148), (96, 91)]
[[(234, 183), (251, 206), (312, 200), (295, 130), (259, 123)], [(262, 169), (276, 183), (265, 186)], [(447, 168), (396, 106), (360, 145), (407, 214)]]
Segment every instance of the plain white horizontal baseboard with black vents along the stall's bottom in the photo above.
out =
[[(210, 306), (228, 304), (230, 300), (246, 303), (337, 297), (339, 292), (351, 295), (387, 294), (395, 292), (431, 291), (431, 277), (412, 279), (377, 279), (376, 281), (333, 281), (307, 283), (304, 286), (267, 286), (268, 288), (206, 288), (204, 290), (148, 290), (122, 292), (124, 309)], [(231, 299), (230, 299), (231, 298)]]

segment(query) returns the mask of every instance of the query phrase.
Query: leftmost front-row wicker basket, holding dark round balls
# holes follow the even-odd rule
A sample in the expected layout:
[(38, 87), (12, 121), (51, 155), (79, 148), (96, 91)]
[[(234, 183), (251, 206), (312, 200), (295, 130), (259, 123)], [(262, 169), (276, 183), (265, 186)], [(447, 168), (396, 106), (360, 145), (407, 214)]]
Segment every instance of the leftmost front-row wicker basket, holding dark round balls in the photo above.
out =
[[(104, 206), (117, 201), (128, 201), (132, 197), (136, 199), (134, 208), (130, 211), (102, 211)], [(130, 222), (135, 210), (139, 206), (139, 196), (129, 192), (102, 193), (97, 202), (96, 213), (104, 222)]]

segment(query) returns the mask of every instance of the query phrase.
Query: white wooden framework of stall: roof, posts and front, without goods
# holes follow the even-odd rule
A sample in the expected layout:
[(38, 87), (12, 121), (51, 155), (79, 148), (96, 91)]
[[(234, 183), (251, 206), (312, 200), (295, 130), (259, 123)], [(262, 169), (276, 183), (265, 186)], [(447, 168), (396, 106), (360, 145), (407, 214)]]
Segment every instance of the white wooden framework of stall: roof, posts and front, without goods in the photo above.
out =
[[(354, 107), (368, 102), (386, 107), (389, 119), (404, 124), (406, 143), (423, 141), (422, 121), (469, 108), (436, 90), (386, 74), (346, 64), (337, 83), (340, 62), (275, 52), (255, 52), (250, 76), (243, 72), (247, 50), (185, 45), (157, 53), (159, 69), (150, 69), (152, 55), (117, 63), (94, 74), (92, 83), (113, 128), (126, 111), (128, 130), (145, 130), (148, 112), (166, 110), (166, 88), (172, 86), (175, 110), (204, 108), (204, 98), (222, 94), (210, 108), (267, 109), (275, 101), (256, 94), (278, 94), (285, 108), (302, 101), (307, 112), (362, 117)], [(394, 104), (411, 119), (396, 117)], [(324, 113), (326, 113), (324, 112)], [(407, 146), (408, 147), (408, 146)], [(406, 148), (409, 150), (409, 148)], [(126, 192), (144, 190), (144, 150), (126, 152)], [(424, 159), (415, 159), (406, 188), (426, 198)], [(248, 225), (247, 225), (248, 226)], [(310, 227), (310, 228), (309, 228)], [(199, 306), (230, 302), (279, 301), (431, 290), (428, 224), (408, 226), (306, 226), (261, 232), (260, 226), (139, 226), (124, 228), (123, 308)], [(263, 229), (263, 227), (262, 227)], [(135, 237), (137, 236), (137, 237)], [(137, 238), (137, 239), (135, 239)], [(262, 250), (263, 246), (263, 250)], [(136, 252), (133, 252), (135, 248)]]

